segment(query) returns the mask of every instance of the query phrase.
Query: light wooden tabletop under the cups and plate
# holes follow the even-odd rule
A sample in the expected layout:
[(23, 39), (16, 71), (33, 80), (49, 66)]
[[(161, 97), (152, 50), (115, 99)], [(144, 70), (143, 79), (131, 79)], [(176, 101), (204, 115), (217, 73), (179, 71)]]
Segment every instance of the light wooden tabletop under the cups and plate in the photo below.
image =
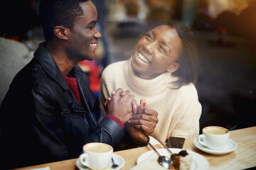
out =
[[(213, 155), (201, 152), (193, 145), (194, 139), (186, 140), (183, 149), (187, 149), (201, 154), (209, 162), (209, 169), (248, 169), (256, 166), (256, 126), (240, 130), (230, 131), (230, 139), (234, 140), (238, 147), (235, 151), (223, 155)], [(156, 148), (162, 148), (161, 145), (155, 145)], [(119, 152), (125, 160), (124, 170), (131, 169), (136, 165), (137, 158), (144, 152), (151, 150), (150, 147), (139, 147), (135, 149), (127, 149)], [(36, 169), (49, 166), (50, 170), (75, 170), (77, 159), (69, 159), (62, 162), (53, 162), (49, 164), (41, 164), (36, 166), (23, 167), (21, 169)], [(19, 169), (19, 170), (21, 170)]]

